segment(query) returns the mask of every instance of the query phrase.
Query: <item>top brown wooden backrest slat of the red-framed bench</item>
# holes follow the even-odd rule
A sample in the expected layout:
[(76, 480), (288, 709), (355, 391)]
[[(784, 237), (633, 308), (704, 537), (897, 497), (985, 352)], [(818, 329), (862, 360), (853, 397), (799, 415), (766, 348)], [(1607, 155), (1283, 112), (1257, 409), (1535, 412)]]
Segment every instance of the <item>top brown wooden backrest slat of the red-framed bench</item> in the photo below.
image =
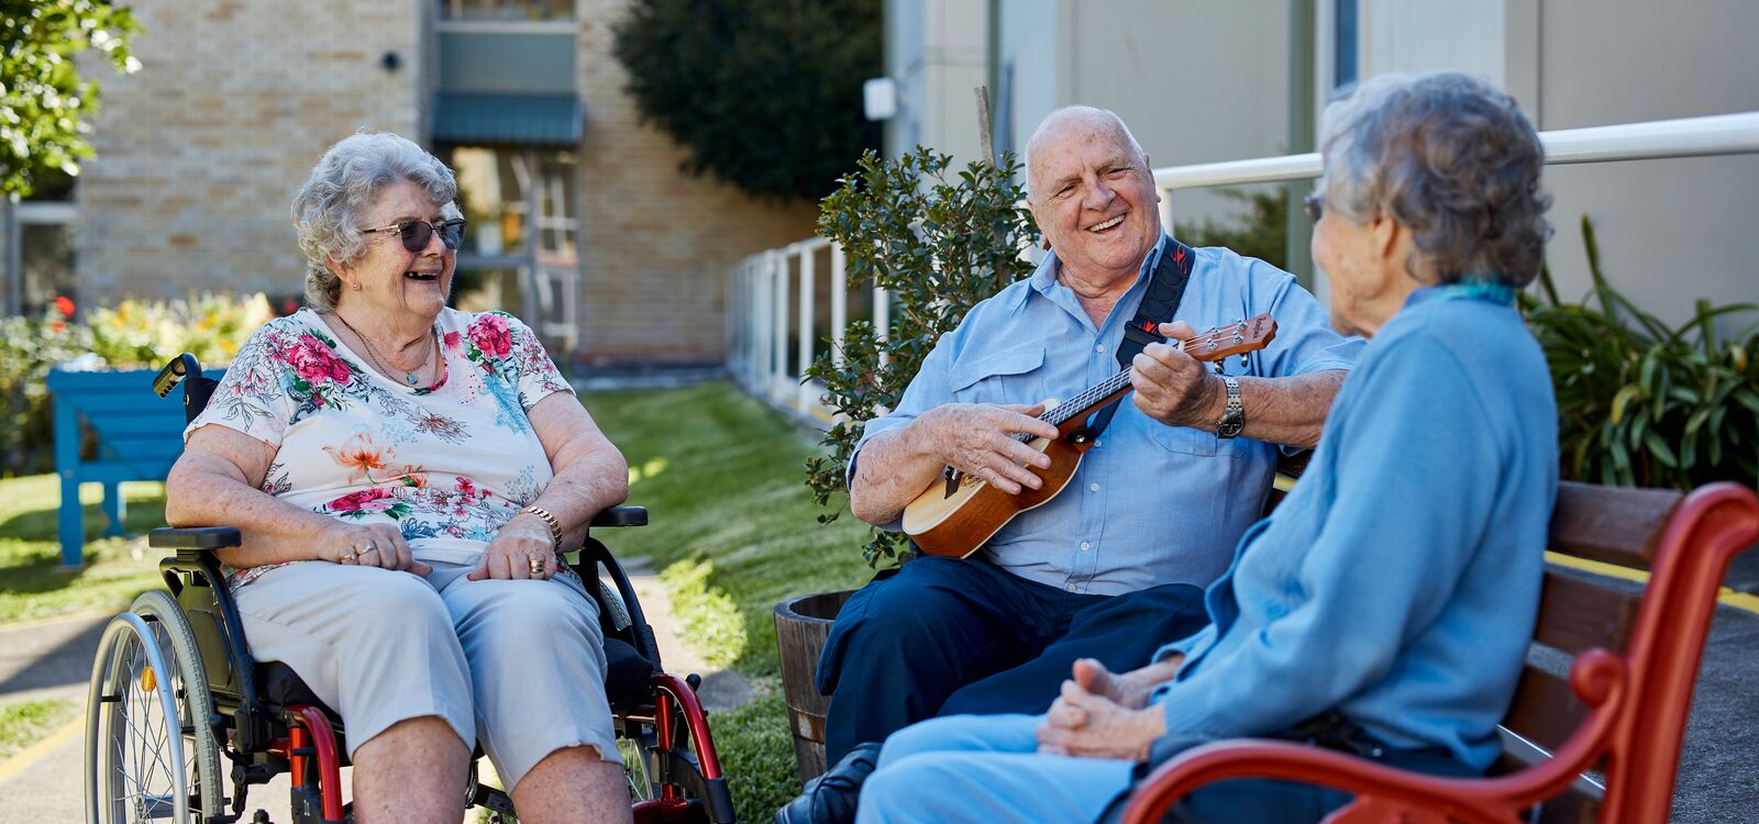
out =
[(1655, 557), (1655, 536), (1682, 497), (1676, 490), (1558, 483), (1550, 546), (1567, 555), (1648, 569)]

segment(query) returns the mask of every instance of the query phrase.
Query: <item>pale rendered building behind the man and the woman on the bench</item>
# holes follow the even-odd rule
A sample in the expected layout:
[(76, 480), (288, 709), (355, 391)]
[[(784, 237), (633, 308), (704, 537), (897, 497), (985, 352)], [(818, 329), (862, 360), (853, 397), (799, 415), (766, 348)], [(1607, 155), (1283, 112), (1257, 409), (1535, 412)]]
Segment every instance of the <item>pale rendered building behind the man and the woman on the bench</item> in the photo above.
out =
[[(1018, 151), (1059, 105), (1091, 104), (1117, 111), (1156, 167), (1312, 151), (1326, 100), (1376, 74), (1442, 69), (1488, 77), (1541, 130), (1759, 111), (1759, 51), (1747, 42), (1759, 5), (1740, 0), (888, 0), (888, 67), (946, 54), (957, 35), (923, 11), (945, 5), (966, 9), (966, 35), (985, 35), (997, 149)], [(897, 32), (918, 21), (922, 35)], [(913, 135), (952, 135), (938, 146), (974, 156), (962, 137), (976, 128), (971, 107), (938, 104), (967, 100), (969, 77), (941, 77), (960, 88), (901, 93), (909, 128), (888, 128), (888, 153)], [(1608, 279), (1671, 323), (1699, 299), (1759, 300), (1759, 248), (1741, 239), (1759, 207), (1759, 156), (1553, 165), (1544, 186), (1557, 227), (1548, 264), (1566, 300), (1590, 283), (1583, 214)], [(1179, 192), (1175, 228), (1237, 209)], [(1303, 248), (1291, 228), (1291, 248)]]

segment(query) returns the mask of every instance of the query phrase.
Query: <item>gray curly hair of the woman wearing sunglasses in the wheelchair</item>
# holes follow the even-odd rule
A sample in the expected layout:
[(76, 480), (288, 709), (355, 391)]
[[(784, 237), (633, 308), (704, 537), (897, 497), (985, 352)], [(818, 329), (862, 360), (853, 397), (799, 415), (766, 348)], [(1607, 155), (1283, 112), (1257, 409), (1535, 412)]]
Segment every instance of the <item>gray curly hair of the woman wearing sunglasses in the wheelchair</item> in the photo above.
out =
[(306, 253), (306, 304), (320, 311), (336, 309), (341, 278), (325, 264), (348, 265), (366, 255), (366, 235), (355, 223), (362, 209), (398, 183), (413, 183), (445, 218), (459, 218), (457, 179), (440, 158), (413, 141), (390, 132), (362, 132), (336, 141), (311, 177), (294, 195), (294, 227)]

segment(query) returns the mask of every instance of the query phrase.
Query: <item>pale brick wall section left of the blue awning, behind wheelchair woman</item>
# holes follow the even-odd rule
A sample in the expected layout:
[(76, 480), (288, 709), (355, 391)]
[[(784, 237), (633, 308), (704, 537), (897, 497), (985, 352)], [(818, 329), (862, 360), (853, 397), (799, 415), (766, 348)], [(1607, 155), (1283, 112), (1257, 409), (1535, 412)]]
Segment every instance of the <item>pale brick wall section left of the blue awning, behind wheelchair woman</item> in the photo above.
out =
[[(84, 165), (83, 300), (190, 290), (297, 295), (288, 202), (322, 151), (359, 128), (420, 139), (417, 18), (426, 0), (139, 0), (141, 72), (104, 90)], [(396, 53), (403, 67), (378, 61)]]

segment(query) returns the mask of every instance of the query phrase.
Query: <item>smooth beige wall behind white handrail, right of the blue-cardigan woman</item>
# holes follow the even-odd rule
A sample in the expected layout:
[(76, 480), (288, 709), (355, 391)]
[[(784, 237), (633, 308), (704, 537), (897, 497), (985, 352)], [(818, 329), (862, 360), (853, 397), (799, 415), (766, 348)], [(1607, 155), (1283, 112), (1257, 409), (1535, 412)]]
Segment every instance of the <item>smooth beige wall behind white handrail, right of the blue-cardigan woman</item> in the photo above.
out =
[[(1520, 2), (1520, 0), (1511, 0)], [(1534, 0), (1527, 0), (1534, 2)], [(1748, 0), (1537, 0), (1539, 128), (1759, 111), (1759, 4)], [(1697, 299), (1759, 300), (1759, 156), (1553, 165), (1558, 292), (1588, 288), (1578, 228), (1594, 220), (1601, 269), (1645, 309), (1678, 323)], [(1750, 320), (1750, 318), (1748, 318)], [(1734, 330), (1745, 322), (1731, 320)]]

